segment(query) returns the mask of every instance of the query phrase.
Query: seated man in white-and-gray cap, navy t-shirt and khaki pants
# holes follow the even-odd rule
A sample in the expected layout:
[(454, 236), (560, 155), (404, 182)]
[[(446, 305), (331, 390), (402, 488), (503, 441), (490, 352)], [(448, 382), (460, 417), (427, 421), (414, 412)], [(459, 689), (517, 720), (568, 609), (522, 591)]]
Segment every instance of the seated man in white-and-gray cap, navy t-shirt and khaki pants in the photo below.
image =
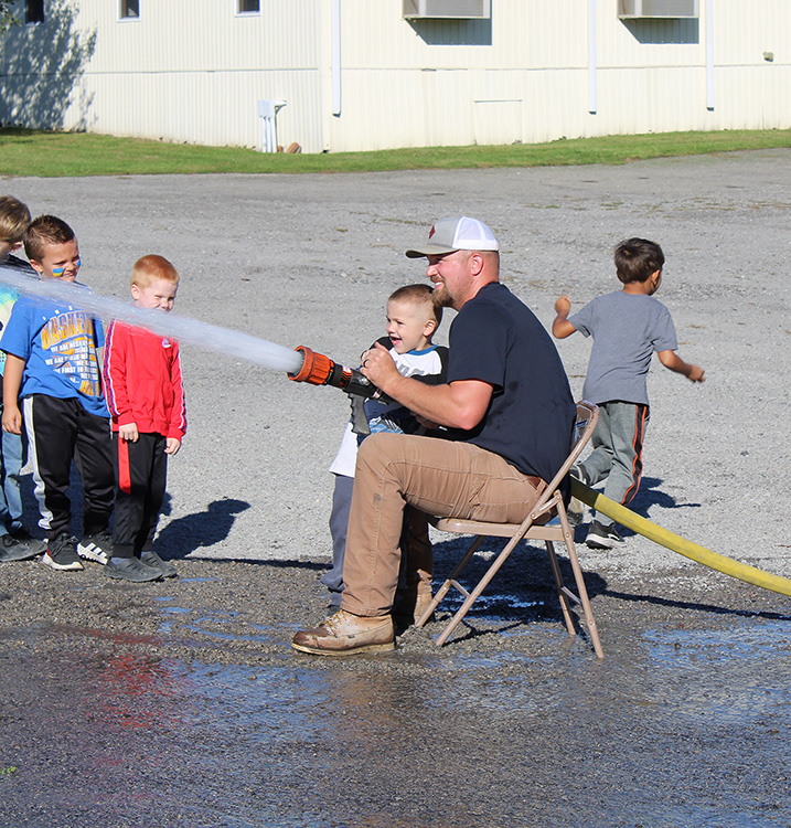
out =
[(442, 219), (426, 257), (437, 300), (458, 310), (448, 382), (402, 376), (377, 346), (362, 372), (447, 438), (374, 434), (360, 447), (346, 537), (341, 609), (297, 633), (302, 652), (342, 656), (394, 647), (404, 508), (521, 523), (567, 458), (576, 406), (557, 350), (533, 312), (500, 284), (500, 246), (467, 216)]

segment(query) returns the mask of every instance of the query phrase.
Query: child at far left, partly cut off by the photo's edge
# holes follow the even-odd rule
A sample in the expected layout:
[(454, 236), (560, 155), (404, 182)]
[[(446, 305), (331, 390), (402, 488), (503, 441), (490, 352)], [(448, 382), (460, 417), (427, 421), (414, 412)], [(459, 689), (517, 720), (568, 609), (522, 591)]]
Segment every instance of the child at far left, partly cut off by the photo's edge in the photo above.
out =
[[(0, 195), (0, 266), (9, 267), (22, 276), (35, 278), (35, 270), (22, 258), (14, 256), (30, 226), (31, 215), (26, 204), (12, 195)], [(0, 285), (0, 330), (11, 316), (19, 293)], [(0, 351), (0, 375), (6, 368), (6, 353)], [(38, 558), (46, 544), (22, 524), (22, 467), (26, 463), (26, 435), (2, 432), (0, 439), (0, 561), (26, 561)]]

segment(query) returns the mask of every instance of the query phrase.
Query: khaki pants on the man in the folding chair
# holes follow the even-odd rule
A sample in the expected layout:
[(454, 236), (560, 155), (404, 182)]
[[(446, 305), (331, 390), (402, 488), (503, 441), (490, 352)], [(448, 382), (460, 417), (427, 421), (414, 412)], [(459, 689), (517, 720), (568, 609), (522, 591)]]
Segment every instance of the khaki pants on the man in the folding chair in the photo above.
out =
[(470, 443), (372, 434), (360, 446), (346, 535), (343, 609), (387, 615), (406, 503), (426, 514), (521, 523), (544, 484)]

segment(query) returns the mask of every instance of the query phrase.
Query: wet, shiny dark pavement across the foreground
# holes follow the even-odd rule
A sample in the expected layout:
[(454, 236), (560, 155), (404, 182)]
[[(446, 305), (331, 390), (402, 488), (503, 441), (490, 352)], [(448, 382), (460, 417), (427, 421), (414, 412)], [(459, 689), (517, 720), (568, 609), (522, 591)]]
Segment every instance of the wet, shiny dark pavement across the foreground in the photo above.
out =
[[(239, 639), (232, 614), (175, 604), (162, 628), (182, 613), (199, 638)], [(253, 629), (245, 640), (276, 634)], [(0, 764), (17, 768), (0, 777), (0, 816), (81, 828), (791, 824), (790, 622), (610, 625), (601, 662), (571, 639), (533, 657), (499, 638), (494, 651), (356, 659), (280, 648), (258, 666), (84, 645), (45, 665), (2, 659), (19, 681), (0, 718)]]

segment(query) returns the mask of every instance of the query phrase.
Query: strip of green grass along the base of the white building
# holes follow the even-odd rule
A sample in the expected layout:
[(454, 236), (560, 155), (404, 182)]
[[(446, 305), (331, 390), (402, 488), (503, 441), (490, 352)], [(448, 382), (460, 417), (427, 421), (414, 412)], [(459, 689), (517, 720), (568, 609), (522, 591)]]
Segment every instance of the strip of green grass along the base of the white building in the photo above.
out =
[(0, 129), (0, 174), (189, 174), (199, 172), (375, 172), (491, 167), (620, 164), (648, 158), (791, 147), (791, 129), (616, 135), (496, 147), (420, 147), (376, 152), (263, 153), (93, 132)]

